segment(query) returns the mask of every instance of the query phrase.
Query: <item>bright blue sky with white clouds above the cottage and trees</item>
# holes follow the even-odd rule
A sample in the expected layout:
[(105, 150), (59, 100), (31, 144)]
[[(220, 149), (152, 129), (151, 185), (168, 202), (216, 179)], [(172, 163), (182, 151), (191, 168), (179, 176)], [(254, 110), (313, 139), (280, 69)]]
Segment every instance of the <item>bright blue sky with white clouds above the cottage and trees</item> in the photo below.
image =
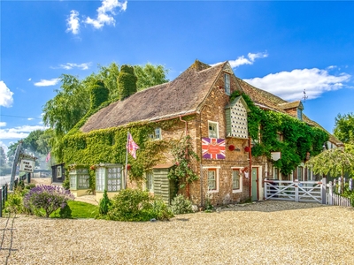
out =
[(176, 78), (198, 59), (288, 101), (332, 133), (353, 112), (354, 2), (1, 1), (0, 145), (44, 129), (62, 73), (97, 64), (163, 64)]

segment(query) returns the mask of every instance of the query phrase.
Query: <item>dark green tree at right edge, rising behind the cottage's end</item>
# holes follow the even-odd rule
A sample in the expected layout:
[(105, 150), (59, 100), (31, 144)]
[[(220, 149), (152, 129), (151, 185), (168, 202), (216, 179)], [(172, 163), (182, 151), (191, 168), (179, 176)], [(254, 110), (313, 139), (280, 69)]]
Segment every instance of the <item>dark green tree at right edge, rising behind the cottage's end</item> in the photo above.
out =
[(335, 137), (343, 143), (354, 144), (354, 113), (335, 117)]

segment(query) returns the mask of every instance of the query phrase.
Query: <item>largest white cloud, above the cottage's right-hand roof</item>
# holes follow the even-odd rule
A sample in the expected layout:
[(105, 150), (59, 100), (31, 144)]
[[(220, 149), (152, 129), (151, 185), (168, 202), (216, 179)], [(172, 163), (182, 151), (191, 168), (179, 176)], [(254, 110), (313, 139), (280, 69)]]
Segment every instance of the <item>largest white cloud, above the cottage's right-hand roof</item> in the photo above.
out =
[(295, 69), (291, 72), (277, 72), (263, 78), (244, 79), (254, 87), (278, 95), (287, 101), (298, 101), (304, 96), (314, 99), (325, 93), (342, 88), (343, 82), (350, 80), (350, 74), (330, 75), (327, 70), (318, 68)]

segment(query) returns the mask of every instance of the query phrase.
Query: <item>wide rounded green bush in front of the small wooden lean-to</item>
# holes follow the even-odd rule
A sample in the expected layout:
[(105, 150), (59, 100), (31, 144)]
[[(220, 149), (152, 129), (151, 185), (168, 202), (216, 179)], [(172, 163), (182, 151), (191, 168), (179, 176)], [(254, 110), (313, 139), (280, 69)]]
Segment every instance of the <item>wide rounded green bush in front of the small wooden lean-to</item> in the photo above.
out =
[(108, 219), (116, 221), (168, 220), (172, 215), (165, 203), (147, 191), (126, 189), (112, 199)]

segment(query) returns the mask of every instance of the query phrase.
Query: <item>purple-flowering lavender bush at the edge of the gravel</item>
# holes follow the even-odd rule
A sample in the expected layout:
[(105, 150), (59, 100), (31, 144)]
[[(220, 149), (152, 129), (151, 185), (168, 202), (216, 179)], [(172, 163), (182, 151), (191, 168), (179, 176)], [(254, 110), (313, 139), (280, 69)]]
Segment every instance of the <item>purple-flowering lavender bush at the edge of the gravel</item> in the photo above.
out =
[(65, 208), (68, 200), (73, 200), (73, 194), (60, 186), (35, 186), (24, 197), (24, 206), (29, 213), (36, 216), (49, 217), (58, 208)]

